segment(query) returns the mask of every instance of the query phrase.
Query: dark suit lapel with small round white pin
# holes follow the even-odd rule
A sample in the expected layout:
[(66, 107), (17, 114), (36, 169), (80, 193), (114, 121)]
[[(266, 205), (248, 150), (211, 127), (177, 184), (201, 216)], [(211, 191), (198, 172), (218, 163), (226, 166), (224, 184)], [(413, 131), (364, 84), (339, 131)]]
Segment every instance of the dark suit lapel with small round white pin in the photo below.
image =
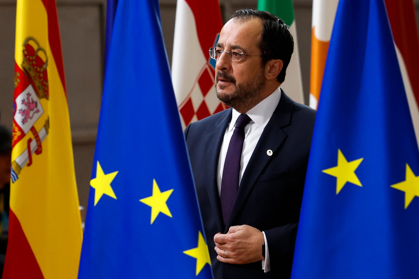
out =
[(227, 233), (228, 228), (230, 228), (231, 223), (237, 217), (243, 205), (246, 204), (246, 200), (257, 179), (261, 175), (266, 164), (268, 164), (272, 158), (272, 156), (267, 155), (266, 151), (270, 149), (273, 154), (275, 154), (278, 147), (287, 137), (287, 134), (282, 131), (282, 127), (289, 125), (291, 122), (294, 101), (285, 95), (284, 91), (281, 90), (281, 92), (282, 95), (279, 104), (262, 132), (249, 163), (246, 166), (246, 170), (244, 171), (230, 218), (225, 226), (225, 233)]

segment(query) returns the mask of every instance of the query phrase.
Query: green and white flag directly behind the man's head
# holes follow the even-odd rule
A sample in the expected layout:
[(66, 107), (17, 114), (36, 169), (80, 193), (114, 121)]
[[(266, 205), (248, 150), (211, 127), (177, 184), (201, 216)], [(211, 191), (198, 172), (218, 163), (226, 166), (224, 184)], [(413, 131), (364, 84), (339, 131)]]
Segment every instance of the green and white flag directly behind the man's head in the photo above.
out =
[(285, 81), (281, 88), (293, 100), (304, 103), (303, 82), (301, 79), (300, 56), (298, 55), (297, 28), (295, 27), (294, 7), (292, 0), (259, 0), (258, 10), (265, 10), (273, 13), (290, 26), (290, 32), (294, 38), (294, 53), (287, 68)]

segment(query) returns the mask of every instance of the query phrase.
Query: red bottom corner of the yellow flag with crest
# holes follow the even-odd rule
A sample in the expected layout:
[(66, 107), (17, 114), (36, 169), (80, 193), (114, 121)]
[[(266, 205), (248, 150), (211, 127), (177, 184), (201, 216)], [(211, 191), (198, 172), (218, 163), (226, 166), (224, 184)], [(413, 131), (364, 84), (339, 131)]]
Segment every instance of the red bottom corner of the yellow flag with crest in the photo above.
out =
[(21, 223), (11, 209), (9, 210), (9, 230), (12, 230), (13, 234), (9, 234), (2, 278), (44, 279), (34, 252), (23, 233)]

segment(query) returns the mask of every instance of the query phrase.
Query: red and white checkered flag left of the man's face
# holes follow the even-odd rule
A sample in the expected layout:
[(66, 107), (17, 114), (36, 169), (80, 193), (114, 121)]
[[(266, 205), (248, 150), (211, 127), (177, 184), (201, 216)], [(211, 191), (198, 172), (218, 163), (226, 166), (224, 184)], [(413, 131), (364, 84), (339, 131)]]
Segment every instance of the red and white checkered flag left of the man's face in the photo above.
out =
[(172, 82), (183, 128), (226, 108), (215, 95), (215, 60), (208, 53), (221, 28), (218, 0), (178, 0)]

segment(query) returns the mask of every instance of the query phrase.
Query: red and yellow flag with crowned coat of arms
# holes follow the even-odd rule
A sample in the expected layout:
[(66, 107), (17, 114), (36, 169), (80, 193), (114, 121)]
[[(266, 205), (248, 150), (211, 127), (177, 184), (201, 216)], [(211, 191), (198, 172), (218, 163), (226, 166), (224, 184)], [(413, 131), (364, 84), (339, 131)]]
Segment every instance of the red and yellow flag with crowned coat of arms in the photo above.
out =
[(55, 0), (17, 0), (3, 278), (76, 278), (82, 229)]

